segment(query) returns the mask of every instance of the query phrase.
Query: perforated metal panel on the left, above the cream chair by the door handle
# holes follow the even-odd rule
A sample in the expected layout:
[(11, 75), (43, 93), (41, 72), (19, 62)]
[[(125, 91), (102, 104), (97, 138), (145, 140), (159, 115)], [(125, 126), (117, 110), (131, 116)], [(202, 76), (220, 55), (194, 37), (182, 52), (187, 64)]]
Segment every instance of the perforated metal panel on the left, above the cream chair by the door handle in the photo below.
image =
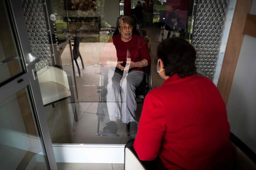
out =
[(42, 0), (21, 0), (32, 53), (40, 58), (36, 70), (52, 65)]

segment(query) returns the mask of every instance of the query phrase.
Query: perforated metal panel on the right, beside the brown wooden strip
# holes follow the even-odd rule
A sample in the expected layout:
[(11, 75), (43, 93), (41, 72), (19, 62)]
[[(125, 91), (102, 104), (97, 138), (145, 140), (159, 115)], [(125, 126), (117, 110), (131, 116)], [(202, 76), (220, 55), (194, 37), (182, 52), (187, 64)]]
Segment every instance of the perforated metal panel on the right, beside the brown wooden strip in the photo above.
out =
[(192, 45), (197, 52), (196, 67), (213, 79), (229, 0), (198, 0)]

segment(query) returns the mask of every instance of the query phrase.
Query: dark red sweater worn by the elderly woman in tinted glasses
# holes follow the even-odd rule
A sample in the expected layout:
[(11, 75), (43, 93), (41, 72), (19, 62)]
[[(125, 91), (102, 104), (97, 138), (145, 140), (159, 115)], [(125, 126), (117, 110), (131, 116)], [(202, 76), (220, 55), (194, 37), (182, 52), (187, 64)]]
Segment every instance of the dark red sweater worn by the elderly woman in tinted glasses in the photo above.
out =
[[(133, 34), (130, 41), (124, 42), (121, 39), (121, 34), (118, 34), (113, 36), (113, 44), (116, 47), (117, 61), (127, 61), (127, 50), (129, 50), (131, 61), (137, 62), (146, 59), (148, 60), (148, 65), (151, 64), (148, 48), (141, 36)], [(134, 70), (142, 71), (143, 69), (135, 68)]]

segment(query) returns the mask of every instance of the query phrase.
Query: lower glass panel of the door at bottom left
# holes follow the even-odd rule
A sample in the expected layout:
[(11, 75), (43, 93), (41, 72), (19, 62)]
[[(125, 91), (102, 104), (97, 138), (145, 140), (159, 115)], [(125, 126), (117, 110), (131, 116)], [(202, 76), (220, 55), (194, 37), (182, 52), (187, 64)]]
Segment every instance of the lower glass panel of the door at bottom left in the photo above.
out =
[(26, 88), (0, 103), (1, 169), (47, 169), (33, 114)]

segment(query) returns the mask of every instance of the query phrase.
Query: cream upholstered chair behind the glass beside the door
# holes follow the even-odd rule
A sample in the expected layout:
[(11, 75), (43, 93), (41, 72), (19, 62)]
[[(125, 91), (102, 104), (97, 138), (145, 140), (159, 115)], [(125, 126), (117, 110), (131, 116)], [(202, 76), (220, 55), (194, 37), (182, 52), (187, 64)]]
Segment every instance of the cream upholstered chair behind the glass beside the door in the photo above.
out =
[[(46, 66), (37, 71), (37, 75), (44, 107), (49, 105), (55, 107), (55, 103), (71, 98), (68, 75), (64, 70)], [(77, 122), (76, 109), (73, 111)]]

